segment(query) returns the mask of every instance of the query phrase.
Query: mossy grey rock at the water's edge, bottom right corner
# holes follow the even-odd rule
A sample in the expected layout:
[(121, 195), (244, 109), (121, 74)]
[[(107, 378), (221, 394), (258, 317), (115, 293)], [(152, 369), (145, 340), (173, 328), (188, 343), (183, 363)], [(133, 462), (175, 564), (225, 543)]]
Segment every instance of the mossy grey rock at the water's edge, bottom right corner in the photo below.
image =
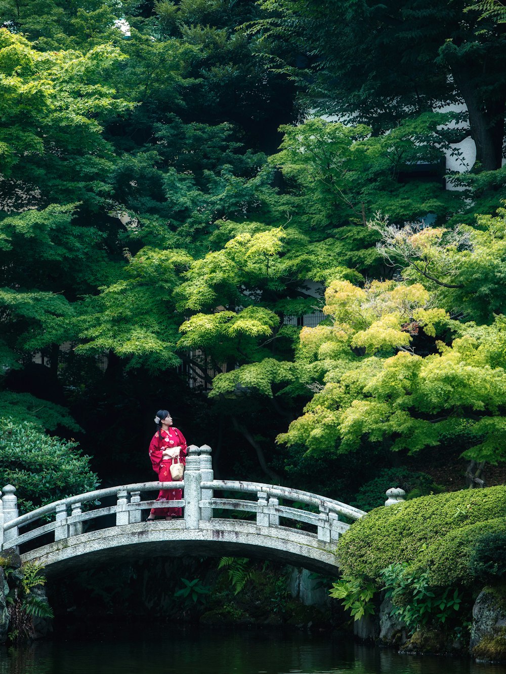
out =
[(504, 590), (484, 588), (472, 609), (469, 650), (477, 660), (506, 661), (506, 596)]

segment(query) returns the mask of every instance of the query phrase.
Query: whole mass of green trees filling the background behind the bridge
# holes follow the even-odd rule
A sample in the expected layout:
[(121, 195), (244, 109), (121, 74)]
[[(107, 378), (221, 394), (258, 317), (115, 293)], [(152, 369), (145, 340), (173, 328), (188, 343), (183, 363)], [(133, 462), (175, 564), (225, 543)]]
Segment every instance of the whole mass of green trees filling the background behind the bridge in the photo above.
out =
[(117, 483), (173, 408), (227, 477), (370, 505), (423, 452), (505, 458), (500, 13), (0, 7), (3, 417)]

